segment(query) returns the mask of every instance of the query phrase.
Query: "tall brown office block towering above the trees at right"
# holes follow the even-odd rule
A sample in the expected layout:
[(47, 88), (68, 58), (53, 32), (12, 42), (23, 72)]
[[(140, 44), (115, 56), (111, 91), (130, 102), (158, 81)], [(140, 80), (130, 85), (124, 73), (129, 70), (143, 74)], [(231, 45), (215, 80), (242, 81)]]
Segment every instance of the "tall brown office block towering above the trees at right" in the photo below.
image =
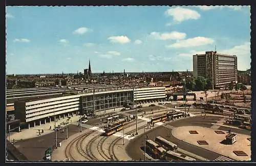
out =
[(202, 76), (212, 80), (214, 87), (238, 82), (237, 56), (206, 51), (193, 56), (193, 76)]

